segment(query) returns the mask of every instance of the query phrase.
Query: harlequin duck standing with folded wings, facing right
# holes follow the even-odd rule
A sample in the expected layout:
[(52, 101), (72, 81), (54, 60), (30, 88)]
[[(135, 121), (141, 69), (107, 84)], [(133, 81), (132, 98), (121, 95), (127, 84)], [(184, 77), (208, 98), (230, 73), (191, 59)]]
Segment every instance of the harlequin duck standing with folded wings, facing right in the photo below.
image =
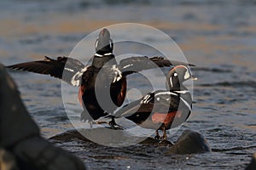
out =
[[(183, 82), (196, 79), (189, 67), (177, 65), (166, 76), (166, 90), (157, 90), (125, 105), (113, 115), (125, 117), (140, 127), (155, 129), (155, 139), (167, 139), (166, 129), (177, 127), (190, 115), (192, 98)], [(163, 135), (160, 137), (159, 130)]]

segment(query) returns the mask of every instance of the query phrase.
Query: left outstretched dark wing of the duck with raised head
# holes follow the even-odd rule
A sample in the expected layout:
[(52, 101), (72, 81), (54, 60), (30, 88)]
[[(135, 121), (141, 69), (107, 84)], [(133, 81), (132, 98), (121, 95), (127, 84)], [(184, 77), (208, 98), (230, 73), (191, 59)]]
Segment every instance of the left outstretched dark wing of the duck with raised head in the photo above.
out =
[(38, 74), (49, 75), (68, 82), (73, 86), (79, 86), (79, 84), (73, 84), (72, 79), (74, 77), (77, 78), (78, 76), (81, 77), (81, 73), (86, 68), (78, 59), (67, 57), (50, 59), (47, 56), (45, 56), (43, 60), (9, 65), (7, 67), (13, 70), (30, 71)]

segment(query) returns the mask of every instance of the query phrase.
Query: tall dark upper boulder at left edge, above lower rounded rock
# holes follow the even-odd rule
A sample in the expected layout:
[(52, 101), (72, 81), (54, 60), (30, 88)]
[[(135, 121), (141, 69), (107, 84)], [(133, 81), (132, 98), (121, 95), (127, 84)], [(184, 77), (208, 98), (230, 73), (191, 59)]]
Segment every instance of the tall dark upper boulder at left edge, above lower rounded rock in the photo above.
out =
[(15, 82), (3, 65), (0, 65), (0, 113), (0, 146), (9, 147), (22, 139), (39, 135), (38, 126), (27, 113)]

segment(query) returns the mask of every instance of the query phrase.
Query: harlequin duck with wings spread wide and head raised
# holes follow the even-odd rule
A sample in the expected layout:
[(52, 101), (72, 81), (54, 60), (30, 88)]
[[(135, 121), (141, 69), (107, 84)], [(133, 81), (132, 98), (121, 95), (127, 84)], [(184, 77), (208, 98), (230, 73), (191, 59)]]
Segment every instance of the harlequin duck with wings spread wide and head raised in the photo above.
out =
[[(92, 58), (91, 65), (84, 65), (78, 59), (73, 58), (58, 57), (57, 59), (50, 59), (45, 56), (44, 60), (9, 65), (8, 67), (15, 70), (50, 75), (51, 77), (60, 78), (73, 86), (79, 87), (79, 102), (84, 107), (84, 111), (81, 114), (81, 121), (84, 122), (86, 120), (96, 120), (101, 116), (108, 115), (109, 112), (113, 113), (117, 107), (123, 104), (126, 94), (127, 75), (158, 66), (187, 65), (179, 61), (170, 61), (163, 57), (148, 58), (146, 56), (122, 59), (119, 65), (117, 65), (113, 55), (113, 40), (110, 38), (110, 33), (107, 29), (100, 31), (96, 39), (95, 48), (96, 54)], [(108, 65), (106, 65), (107, 63)], [(96, 77), (98, 72), (102, 70), (103, 65), (105, 65), (104, 69), (106, 69), (106, 72), (108, 72), (107, 70), (112, 70), (122, 73), (122, 77), (111, 82), (110, 96), (114, 106), (109, 108), (108, 111), (102, 109), (95, 94)], [(108, 74), (105, 74), (105, 76), (108, 77)], [(101, 82), (100, 84), (104, 83), (108, 82)]]

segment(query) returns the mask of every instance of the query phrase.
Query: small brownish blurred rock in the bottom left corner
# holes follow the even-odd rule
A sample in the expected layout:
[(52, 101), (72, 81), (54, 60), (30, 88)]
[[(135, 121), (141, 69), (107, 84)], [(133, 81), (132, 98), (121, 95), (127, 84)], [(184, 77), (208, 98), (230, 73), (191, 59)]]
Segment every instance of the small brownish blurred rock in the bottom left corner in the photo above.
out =
[(0, 169), (1, 170), (19, 170), (16, 164), (15, 156), (9, 151), (0, 149)]

